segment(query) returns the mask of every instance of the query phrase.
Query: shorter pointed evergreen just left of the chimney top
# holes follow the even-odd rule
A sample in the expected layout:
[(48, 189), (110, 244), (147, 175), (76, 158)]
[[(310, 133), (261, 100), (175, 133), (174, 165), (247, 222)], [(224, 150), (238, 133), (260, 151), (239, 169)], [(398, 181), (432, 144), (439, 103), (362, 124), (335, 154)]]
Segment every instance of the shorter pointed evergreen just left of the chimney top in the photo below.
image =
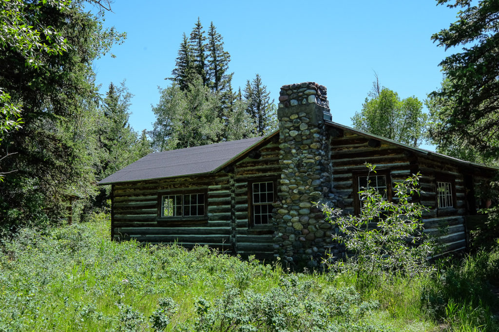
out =
[(254, 121), (255, 134), (266, 135), (277, 128), (274, 100), (270, 101), (270, 92), (261, 82), (259, 74), (251, 82), (247, 80), (244, 97), (248, 101), (247, 113)]

